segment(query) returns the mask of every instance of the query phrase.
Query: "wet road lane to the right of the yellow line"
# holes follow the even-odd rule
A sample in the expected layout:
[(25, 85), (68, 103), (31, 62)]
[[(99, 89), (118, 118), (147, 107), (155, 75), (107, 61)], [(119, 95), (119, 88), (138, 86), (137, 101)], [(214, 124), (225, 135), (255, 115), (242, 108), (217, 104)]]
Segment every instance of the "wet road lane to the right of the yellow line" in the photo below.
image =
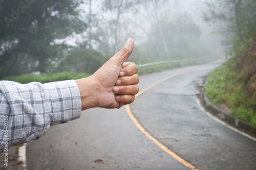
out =
[(197, 104), (196, 85), (212, 65), (176, 76), (131, 105), (147, 130), (198, 169), (256, 169), (256, 142), (216, 122)]

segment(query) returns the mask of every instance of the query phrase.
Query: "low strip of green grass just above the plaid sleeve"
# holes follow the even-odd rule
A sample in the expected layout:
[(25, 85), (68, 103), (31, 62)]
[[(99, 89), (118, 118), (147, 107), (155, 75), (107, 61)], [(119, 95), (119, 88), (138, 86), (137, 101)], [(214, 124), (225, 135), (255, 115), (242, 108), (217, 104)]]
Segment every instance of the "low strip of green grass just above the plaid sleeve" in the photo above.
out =
[(85, 77), (91, 76), (85, 72), (78, 73), (78, 72), (58, 72), (54, 74), (40, 74), (40, 75), (33, 75), (33, 74), (25, 74), (22, 76), (14, 76), (14, 77), (5, 77), (1, 80), (9, 80), (18, 83), (30, 83), (30, 82), (41, 82), (41, 83), (48, 83), (48, 82), (55, 82), (55, 81), (62, 81), (62, 80), (72, 80), (72, 79), (81, 79)]

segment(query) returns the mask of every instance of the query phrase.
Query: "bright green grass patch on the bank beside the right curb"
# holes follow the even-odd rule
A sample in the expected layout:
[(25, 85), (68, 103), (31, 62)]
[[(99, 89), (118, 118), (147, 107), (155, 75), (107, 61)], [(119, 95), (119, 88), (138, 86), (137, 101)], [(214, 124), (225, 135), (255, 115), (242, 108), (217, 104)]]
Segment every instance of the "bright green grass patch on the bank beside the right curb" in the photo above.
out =
[(205, 91), (212, 103), (229, 106), (231, 114), (256, 125), (256, 94), (248, 94), (249, 83), (241, 81), (242, 73), (224, 63), (209, 74)]

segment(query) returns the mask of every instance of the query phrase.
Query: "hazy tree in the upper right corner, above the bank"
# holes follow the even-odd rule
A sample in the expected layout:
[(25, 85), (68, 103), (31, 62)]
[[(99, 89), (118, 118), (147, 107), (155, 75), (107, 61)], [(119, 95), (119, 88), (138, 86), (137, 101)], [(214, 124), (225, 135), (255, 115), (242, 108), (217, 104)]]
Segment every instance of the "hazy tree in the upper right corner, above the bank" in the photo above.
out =
[[(256, 1), (248, 0), (217, 0), (215, 4), (206, 3), (208, 12), (203, 14), (206, 22), (215, 23), (217, 20), (224, 21), (227, 25), (221, 30), (227, 36), (233, 37), (234, 49), (243, 43), (244, 39), (248, 39), (256, 31)], [(226, 10), (228, 9), (228, 10)]]

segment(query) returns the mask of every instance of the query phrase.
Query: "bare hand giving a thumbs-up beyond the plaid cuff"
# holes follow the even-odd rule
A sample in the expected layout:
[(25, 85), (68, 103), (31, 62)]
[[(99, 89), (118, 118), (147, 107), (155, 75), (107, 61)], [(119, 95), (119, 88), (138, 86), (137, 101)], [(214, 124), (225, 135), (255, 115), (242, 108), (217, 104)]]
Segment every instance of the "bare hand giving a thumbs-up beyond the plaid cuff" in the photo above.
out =
[(120, 108), (134, 101), (139, 91), (138, 67), (132, 62), (125, 63), (133, 47), (134, 42), (129, 39), (122, 50), (92, 76), (76, 80), (82, 110), (92, 107)]

